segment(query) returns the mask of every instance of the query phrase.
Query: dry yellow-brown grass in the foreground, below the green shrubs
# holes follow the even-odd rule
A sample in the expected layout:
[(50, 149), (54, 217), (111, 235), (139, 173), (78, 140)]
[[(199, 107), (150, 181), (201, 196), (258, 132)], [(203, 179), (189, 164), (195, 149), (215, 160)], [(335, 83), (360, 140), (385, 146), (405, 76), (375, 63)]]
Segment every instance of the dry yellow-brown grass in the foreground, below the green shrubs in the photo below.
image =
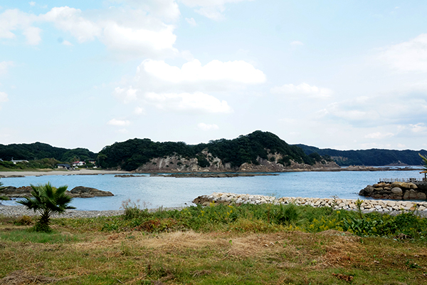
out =
[[(25, 227), (9, 224), (0, 231), (6, 228)], [(0, 284), (51, 283), (427, 284), (427, 249), (422, 242), (334, 230), (88, 232), (72, 242), (46, 243), (0, 239)]]

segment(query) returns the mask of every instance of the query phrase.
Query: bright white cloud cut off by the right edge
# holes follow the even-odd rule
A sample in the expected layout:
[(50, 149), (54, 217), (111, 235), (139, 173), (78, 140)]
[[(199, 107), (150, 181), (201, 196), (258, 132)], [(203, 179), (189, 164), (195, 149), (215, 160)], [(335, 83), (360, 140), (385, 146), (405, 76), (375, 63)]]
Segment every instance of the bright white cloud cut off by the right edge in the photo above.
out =
[(427, 33), (410, 41), (382, 48), (378, 58), (398, 71), (427, 72)]

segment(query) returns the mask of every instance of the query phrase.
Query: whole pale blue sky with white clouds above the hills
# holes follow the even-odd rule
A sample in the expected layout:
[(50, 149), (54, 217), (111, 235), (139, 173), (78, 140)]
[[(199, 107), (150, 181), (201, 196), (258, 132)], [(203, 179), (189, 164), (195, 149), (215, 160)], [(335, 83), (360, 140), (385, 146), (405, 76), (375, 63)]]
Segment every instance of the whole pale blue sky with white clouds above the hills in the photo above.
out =
[(0, 1), (0, 144), (427, 149), (427, 1)]

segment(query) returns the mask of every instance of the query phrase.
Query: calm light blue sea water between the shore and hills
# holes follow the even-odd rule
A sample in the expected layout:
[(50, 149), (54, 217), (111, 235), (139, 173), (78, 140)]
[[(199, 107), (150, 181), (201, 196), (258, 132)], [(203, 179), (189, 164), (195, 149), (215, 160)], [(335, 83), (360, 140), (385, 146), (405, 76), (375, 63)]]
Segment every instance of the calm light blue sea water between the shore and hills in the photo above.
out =
[[(51, 182), (55, 187), (68, 185), (94, 187), (110, 191), (114, 197), (75, 198), (71, 203), (80, 210), (120, 209), (130, 199), (147, 207), (180, 207), (191, 204), (199, 195), (213, 192), (274, 195), (275, 197), (338, 196), (359, 197), (359, 190), (381, 178), (421, 178), (419, 170), (410, 171), (342, 171), (342, 172), (285, 172), (277, 176), (231, 178), (174, 178), (174, 177), (114, 177), (114, 175), (51, 175), (41, 177), (3, 178), (6, 186), (28, 186)], [(4, 204), (16, 204), (6, 201)]]

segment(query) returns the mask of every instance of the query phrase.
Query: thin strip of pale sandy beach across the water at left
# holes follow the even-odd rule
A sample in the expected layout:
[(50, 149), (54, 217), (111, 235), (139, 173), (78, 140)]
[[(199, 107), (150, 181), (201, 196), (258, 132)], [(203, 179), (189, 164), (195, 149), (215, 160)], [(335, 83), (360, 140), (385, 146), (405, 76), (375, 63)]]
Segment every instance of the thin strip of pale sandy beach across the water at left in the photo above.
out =
[(129, 174), (120, 170), (39, 170), (39, 171), (0, 171), (1, 177), (16, 176), (43, 176), (43, 175), (102, 175), (102, 174)]

